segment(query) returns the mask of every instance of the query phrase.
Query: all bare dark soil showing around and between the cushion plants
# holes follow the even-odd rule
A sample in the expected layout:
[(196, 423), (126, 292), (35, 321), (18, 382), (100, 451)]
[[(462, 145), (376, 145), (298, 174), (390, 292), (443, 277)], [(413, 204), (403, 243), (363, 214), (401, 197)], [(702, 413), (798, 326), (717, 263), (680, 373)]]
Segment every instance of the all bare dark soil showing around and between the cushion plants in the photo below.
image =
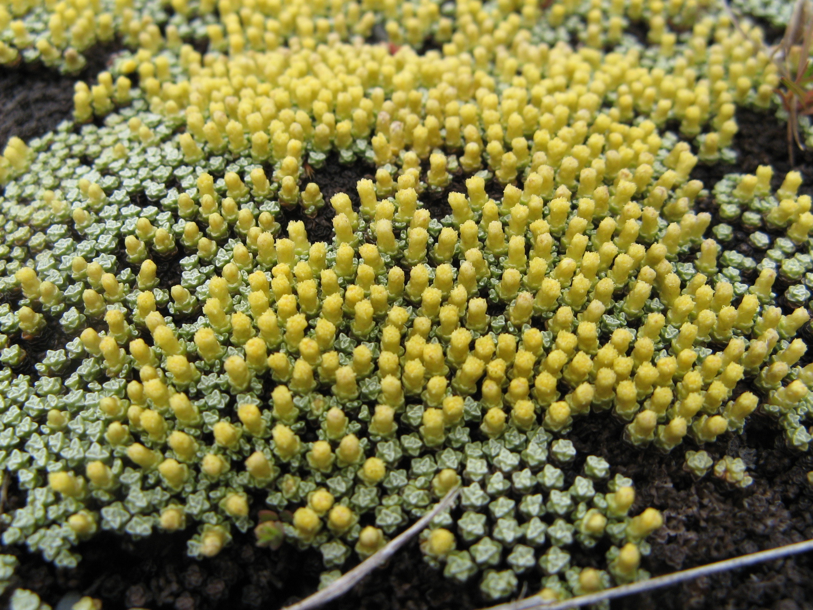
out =
[[(98, 57), (101, 69), (107, 54)], [(91, 62), (93, 63), (93, 62)], [(87, 68), (88, 71), (91, 68)], [(34, 137), (52, 129), (72, 111), (75, 79), (58, 76), (42, 68), (0, 70), (0, 146), (10, 133)], [(777, 185), (790, 169), (785, 127), (766, 115), (740, 111), (740, 133), (735, 146), (740, 152), (736, 166), (699, 166), (693, 177), (707, 187), (730, 172), (753, 172), (759, 164), (776, 168)], [(805, 179), (802, 190), (813, 190), (813, 154), (797, 154), (797, 166)], [(328, 240), (333, 231), (333, 208), (329, 198), (346, 192), (358, 204), (355, 183), (372, 178), (372, 168), (363, 163), (341, 166), (328, 159), (325, 167), (303, 179), (315, 181), (324, 195), (325, 207), (314, 218), (297, 209), (284, 211), (280, 223), (304, 220), (313, 241)], [(449, 190), (464, 190), (456, 177), (441, 193), (426, 192), (422, 199), (435, 218), (448, 213)], [(701, 205), (710, 205), (709, 202)], [(809, 338), (809, 337), (808, 337)], [(42, 349), (45, 349), (43, 347)], [(719, 459), (723, 455), (746, 462), (754, 483), (738, 490), (707, 474), (700, 481), (683, 470), (686, 443), (670, 455), (654, 450), (638, 451), (624, 443), (622, 425), (610, 415), (577, 420), (569, 435), (579, 451), (576, 463), (563, 467), (572, 480), (586, 455), (602, 455), (613, 465), (613, 473), (633, 478), (637, 499), (633, 512), (654, 506), (663, 511), (665, 525), (652, 539), (652, 553), (646, 569), (654, 574), (670, 573), (790, 542), (813, 538), (813, 493), (806, 473), (813, 458), (785, 448), (778, 427), (763, 416), (754, 416), (741, 435), (726, 434), (705, 447)], [(24, 494), (12, 485), (6, 503), (11, 510), (24, 503)], [(185, 555), (185, 541), (191, 531), (154, 534), (132, 541), (100, 534), (79, 549), (84, 559), (77, 569), (57, 570), (40, 556), (22, 547), (2, 549), (20, 558), (14, 586), (37, 591), (52, 606), (66, 592), (77, 591), (103, 600), (106, 610), (146, 607), (204, 610), (208, 608), (280, 608), (308, 595), (318, 584), (321, 560), (315, 551), (300, 552), (289, 545), (279, 551), (254, 547), (253, 534), (237, 534), (231, 546), (211, 560), (191, 560)], [(596, 564), (602, 554), (572, 550), (581, 565)], [(612, 608), (813, 608), (813, 558), (796, 556), (750, 569), (701, 578), (648, 595), (616, 600)], [(529, 578), (528, 591), (536, 590), (539, 575)], [(0, 606), (8, 599), (0, 598)], [(472, 583), (456, 586), (421, 559), (412, 542), (384, 569), (357, 586), (329, 608), (408, 608), (424, 610), (454, 608), (467, 610), (488, 603)]]

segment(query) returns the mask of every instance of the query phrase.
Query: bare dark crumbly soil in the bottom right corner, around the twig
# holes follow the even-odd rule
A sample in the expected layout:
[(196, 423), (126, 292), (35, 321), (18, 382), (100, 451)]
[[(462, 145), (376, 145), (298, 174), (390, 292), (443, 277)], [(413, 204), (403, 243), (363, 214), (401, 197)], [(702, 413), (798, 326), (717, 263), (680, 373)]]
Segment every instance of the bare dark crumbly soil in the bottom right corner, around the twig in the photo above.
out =
[[(715, 460), (740, 457), (754, 483), (737, 490), (711, 473), (695, 481), (683, 470), (684, 451), (670, 455), (635, 451), (618, 442), (620, 425), (591, 416), (571, 434), (580, 451), (595, 447), (633, 478), (633, 512), (648, 506), (663, 512), (665, 525), (653, 534), (646, 560), (653, 573), (670, 573), (728, 557), (779, 547), (813, 537), (813, 495), (806, 473), (810, 456), (791, 453), (771, 420), (753, 416), (744, 434), (728, 434), (704, 449)], [(763, 564), (619, 600), (617, 608), (808, 608), (813, 561), (810, 556)]]

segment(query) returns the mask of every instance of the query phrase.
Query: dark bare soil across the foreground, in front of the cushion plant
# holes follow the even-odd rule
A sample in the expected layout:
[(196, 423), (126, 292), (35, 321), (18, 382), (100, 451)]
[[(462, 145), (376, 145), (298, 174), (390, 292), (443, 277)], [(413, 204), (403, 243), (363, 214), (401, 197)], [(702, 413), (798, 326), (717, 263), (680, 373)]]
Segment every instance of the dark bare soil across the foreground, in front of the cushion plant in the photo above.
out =
[[(806, 473), (808, 455), (785, 449), (776, 425), (754, 416), (741, 436), (727, 434), (704, 447), (717, 460), (723, 455), (746, 462), (754, 483), (733, 488), (706, 474), (700, 481), (683, 469), (689, 443), (662, 455), (639, 451), (621, 441), (622, 425), (609, 414), (576, 421), (572, 438), (579, 457), (564, 466), (567, 483), (580, 472), (587, 455), (601, 455), (613, 473), (633, 478), (637, 499), (633, 513), (659, 508), (665, 525), (653, 535), (652, 553), (644, 560), (654, 574), (670, 573), (712, 561), (813, 538), (813, 495)], [(9, 508), (23, 502), (11, 490)], [(76, 590), (103, 600), (104, 608), (280, 608), (315, 590), (321, 571), (315, 551), (289, 545), (279, 551), (254, 547), (253, 534), (237, 534), (233, 545), (211, 560), (185, 556), (192, 532), (153, 534), (141, 541), (101, 534), (78, 550), (84, 559), (75, 570), (55, 570), (39, 556), (19, 547), (5, 549), (20, 557), (15, 584), (37, 591), (55, 604)], [(599, 566), (606, 548), (572, 549), (581, 565)], [(682, 586), (616, 600), (613, 608), (810, 608), (813, 558), (797, 556), (750, 569), (702, 578)], [(529, 578), (528, 590), (539, 586)], [(421, 559), (415, 542), (390, 564), (328, 608), (369, 610), (454, 608), (488, 605), (474, 583), (456, 586)]]

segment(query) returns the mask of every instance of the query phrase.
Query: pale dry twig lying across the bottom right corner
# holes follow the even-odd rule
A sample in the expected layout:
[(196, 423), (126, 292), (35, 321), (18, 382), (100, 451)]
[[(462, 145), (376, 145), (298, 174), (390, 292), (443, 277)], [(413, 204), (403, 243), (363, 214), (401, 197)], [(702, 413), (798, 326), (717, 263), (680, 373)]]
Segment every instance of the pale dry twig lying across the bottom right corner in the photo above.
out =
[(526, 599), (518, 599), (515, 602), (501, 603), (498, 606), (485, 608), (485, 610), (567, 610), (567, 608), (580, 608), (587, 606), (591, 603), (599, 603), (606, 599), (615, 599), (624, 597), (625, 595), (633, 595), (636, 593), (644, 593), (646, 591), (660, 589), (664, 586), (676, 585), (680, 582), (692, 580), (703, 576), (719, 572), (728, 572), (737, 568), (745, 568), (749, 565), (761, 564), (764, 561), (771, 561), (781, 559), (798, 553), (813, 551), (813, 540), (806, 540), (804, 542), (796, 542), (788, 544), (785, 547), (777, 547), (769, 549), (768, 551), (759, 551), (733, 557), (729, 560), (717, 561), (714, 564), (701, 565), (698, 568), (682, 570), (650, 578), (646, 581), (632, 582), (628, 585), (615, 586), (612, 589), (598, 591), (598, 593), (591, 593), (589, 595), (580, 595), (572, 599), (565, 599), (560, 602), (546, 602), (538, 597), (528, 597)]

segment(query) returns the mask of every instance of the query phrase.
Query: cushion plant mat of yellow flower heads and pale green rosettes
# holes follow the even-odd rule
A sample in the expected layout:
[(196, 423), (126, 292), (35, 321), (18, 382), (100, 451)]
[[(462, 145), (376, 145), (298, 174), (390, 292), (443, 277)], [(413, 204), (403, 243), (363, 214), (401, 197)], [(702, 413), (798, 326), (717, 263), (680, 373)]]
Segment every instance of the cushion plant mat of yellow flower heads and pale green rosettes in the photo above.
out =
[[(737, 105), (773, 103), (759, 28), (696, 0), (171, 7), (46, 2), (48, 33), (0, 12), (7, 60), (138, 47), (0, 158), (0, 447), (29, 490), (4, 542), (70, 565), (99, 528), (194, 523), (213, 556), (265, 520), (341, 568), (462, 485), (427, 560), (562, 599), (646, 577), (663, 521), (611, 464), (566, 465), (575, 418), (672, 451), (762, 405), (806, 450), (811, 198), (759, 168), (712, 215), (690, 179), (731, 159)], [(325, 163), (374, 177), (329, 198), (332, 241), (282, 233), (324, 214)], [(721, 220), (774, 247), (724, 251)], [(606, 571), (571, 565), (602, 537)]]

